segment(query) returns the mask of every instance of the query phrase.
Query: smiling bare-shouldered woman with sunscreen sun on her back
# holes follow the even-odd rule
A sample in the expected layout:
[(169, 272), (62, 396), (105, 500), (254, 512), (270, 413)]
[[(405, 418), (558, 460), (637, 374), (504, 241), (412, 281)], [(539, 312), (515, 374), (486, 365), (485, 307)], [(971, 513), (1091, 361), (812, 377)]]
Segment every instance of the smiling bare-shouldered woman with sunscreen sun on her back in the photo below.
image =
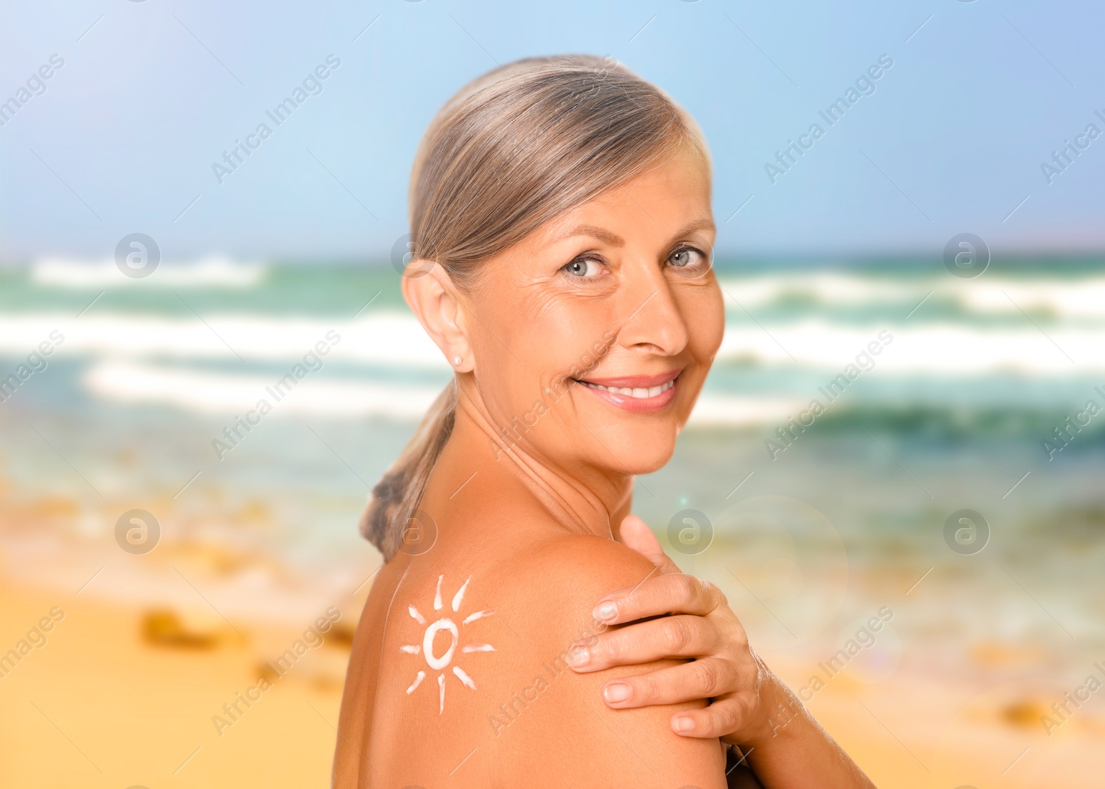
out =
[(615, 64), (513, 63), (431, 124), (410, 218), (455, 377), (362, 520), (334, 785), (872, 786), (629, 515), (724, 330), (694, 122)]

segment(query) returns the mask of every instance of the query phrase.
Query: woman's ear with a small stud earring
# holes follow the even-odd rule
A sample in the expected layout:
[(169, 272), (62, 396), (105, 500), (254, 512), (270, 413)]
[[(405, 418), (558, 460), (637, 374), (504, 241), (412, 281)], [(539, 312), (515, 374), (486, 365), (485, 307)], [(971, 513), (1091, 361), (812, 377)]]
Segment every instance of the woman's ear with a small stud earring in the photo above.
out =
[[(413, 261), (412, 261), (413, 263)], [(409, 271), (415, 271), (408, 266)], [(464, 320), (463, 299), (445, 270), (436, 263), (420, 261), (420, 271), (402, 277), (403, 299), (430, 338), (441, 348), (457, 372), (475, 367)], [(457, 361), (460, 359), (460, 361)]]

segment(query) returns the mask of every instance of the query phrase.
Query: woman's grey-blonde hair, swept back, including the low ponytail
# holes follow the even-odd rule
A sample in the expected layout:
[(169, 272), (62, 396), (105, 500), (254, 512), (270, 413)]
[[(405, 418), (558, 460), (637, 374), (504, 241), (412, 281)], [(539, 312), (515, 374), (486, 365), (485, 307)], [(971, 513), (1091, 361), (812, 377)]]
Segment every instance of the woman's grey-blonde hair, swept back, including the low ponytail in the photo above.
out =
[[(427, 129), (411, 171), (412, 259), (462, 290), (481, 261), (545, 222), (690, 150), (708, 172), (694, 120), (611, 59), (534, 57), (461, 88)], [(372, 488), (361, 534), (390, 560), (453, 430), (456, 379)]]

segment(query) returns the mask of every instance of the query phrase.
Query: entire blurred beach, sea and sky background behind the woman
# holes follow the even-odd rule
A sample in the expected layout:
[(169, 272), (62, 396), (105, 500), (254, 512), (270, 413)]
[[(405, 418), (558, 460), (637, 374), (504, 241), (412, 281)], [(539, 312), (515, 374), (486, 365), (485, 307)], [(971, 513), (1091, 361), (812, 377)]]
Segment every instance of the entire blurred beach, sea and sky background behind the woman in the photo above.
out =
[(399, 293), (414, 148), (586, 52), (715, 166), (725, 341), (634, 511), (878, 786), (1101, 786), (1101, 7), (0, 14), (0, 785), (328, 785), (357, 518), (451, 375)]

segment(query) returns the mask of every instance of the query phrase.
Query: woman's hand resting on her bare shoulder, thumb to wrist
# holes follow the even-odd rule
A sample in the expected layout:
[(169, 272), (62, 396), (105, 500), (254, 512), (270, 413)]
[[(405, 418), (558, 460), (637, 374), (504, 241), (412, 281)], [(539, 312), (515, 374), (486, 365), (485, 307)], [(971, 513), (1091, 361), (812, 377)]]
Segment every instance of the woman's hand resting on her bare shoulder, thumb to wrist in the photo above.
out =
[(748, 645), (745, 629), (722, 591), (683, 574), (635, 515), (622, 522), (621, 540), (652, 561), (656, 571), (636, 587), (603, 597), (593, 616), (606, 624), (648, 621), (579, 642), (568, 653), (572, 670), (599, 671), (661, 658), (693, 658), (682, 665), (611, 680), (602, 686), (603, 701), (618, 708), (713, 699), (703, 709), (676, 713), (672, 729), (690, 737), (720, 737), (746, 747), (771, 736), (771, 711), (765, 692), (775, 690), (775, 677)]

